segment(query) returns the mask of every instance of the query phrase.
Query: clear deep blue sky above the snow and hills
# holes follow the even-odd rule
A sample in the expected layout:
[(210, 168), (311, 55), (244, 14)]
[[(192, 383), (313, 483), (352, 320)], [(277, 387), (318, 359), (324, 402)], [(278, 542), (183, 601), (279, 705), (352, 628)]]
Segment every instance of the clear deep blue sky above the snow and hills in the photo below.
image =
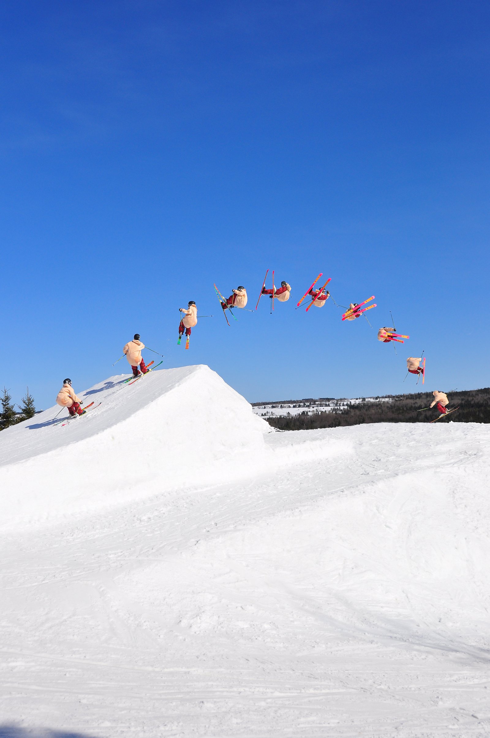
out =
[[(481, 1), (7, 1), (0, 384), (38, 407), (134, 332), (249, 401), (489, 382), (489, 21)], [(230, 328), (213, 282), (255, 307)], [(365, 320), (294, 310), (318, 272)], [(270, 285), (269, 285), (270, 286)], [(177, 346), (178, 308), (203, 319)], [(390, 323), (410, 340), (376, 340)], [(147, 354), (146, 358), (153, 354)], [(420, 387), (419, 387), (420, 388)]]

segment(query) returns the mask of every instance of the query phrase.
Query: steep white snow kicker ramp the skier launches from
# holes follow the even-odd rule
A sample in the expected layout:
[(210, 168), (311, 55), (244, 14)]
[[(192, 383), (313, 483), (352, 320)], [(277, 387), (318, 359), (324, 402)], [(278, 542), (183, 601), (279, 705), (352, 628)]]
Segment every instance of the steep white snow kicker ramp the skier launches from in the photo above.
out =
[(277, 434), (205, 365), (158, 370), (131, 385), (127, 378), (79, 393), (83, 404), (94, 401), (82, 418), (63, 424), (68, 411), (58, 415), (54, 405), (1, 432), (0, 489), (15, 494), (4, 501), (0, 530), (339, 451), (335, 442), (328, 451), (311, 441), (267, 444)]

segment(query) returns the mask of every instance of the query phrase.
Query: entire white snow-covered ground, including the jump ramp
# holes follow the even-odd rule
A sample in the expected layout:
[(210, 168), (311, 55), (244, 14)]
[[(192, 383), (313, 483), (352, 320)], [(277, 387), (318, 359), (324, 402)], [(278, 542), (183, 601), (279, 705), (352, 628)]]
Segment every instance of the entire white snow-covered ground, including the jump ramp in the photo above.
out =
[(0, 433), (1, 737), (489, 736), (490, 427), (123, 379)]

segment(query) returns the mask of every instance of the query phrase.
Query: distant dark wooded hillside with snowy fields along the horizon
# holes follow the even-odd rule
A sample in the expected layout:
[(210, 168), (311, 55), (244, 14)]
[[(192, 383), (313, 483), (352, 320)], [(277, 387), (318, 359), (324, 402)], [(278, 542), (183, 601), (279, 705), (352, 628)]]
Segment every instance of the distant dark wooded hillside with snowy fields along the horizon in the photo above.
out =
[[(459, 410), (451, 415), (451, 420), (455, 423), (490, 423), (490, 387), (483, 390), (448, 392), (447, 396), (449, 408), (460, 405)], [(432, 407), (432, 410), (417, 412), (421, 407), (429, 406), (434, 399), (432, 392), (387, 395), (387, 398), (392, 401), (359, 402), (348, 407), (332, 407), (328, 413), (303, 412), (298, 415), (279, 415), (263, 419), (280, 430), (311, 430), (362, 423), (428, 423), (439, 415), (435, 407)], [(439, 422), (446, 423), (449, 419)]]

